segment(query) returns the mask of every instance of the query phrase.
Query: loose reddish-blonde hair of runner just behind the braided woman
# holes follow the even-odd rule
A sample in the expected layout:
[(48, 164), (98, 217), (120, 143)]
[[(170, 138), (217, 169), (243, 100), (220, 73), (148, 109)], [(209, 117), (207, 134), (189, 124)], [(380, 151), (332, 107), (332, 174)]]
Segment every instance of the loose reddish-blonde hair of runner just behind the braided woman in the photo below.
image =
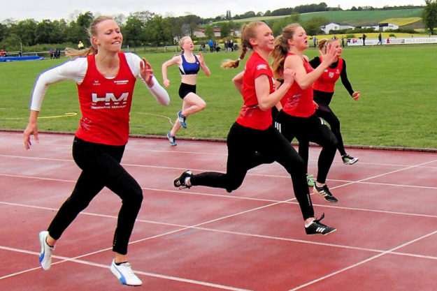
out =
[(271, 64), (273, 75), (276, 79), (282, 77), (284, 71), (285, 57), (289, 50), (288, 40), (291, 40), (294, 36), (294, 32), (298, 27), (301, 27), (299, 23), (288, 24), (282, 29), (282, 34), (275, 38), (275, 48), (270, 53), (270, 57), (273, 58)]

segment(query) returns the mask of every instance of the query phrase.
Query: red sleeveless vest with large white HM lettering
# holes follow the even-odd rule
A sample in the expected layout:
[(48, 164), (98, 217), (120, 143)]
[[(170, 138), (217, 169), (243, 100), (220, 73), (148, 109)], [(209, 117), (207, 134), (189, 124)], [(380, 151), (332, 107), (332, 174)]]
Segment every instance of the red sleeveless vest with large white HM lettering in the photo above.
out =
[(108, 79), (96, 68), (94, 54), (87, 57), (87, 73), (78, 84), (80, 111), (76, 137), (98, 144), (124, 145), (129, 137), (129, 112), (136, 77), (119, 52), (120, 69)]

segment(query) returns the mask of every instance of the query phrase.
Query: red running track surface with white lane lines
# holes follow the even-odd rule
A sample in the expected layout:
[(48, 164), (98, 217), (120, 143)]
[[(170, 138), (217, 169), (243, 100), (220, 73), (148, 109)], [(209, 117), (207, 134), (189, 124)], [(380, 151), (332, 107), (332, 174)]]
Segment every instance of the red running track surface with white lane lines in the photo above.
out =
[[(120, 199), (107, 189), (64, 232), (52, 268), (38, 265), (38, 232), (71, 193), (72, 135), (0, 132), (0, 290), (121, 290), (110, 273)], [(310, 173), (320, 149), (310, 148)], [(307, 236), (287, 172), (250, 170), (233, 193), (173, 179), (187, 168), (224, 171), (226, 144), (131, 138), (124, 167), (144, 200), (129, 245), (135, 290), (437, 290), (437, 154), (350, 149), (328, 176), (338, 204), (313, 195), (338, 228)]]

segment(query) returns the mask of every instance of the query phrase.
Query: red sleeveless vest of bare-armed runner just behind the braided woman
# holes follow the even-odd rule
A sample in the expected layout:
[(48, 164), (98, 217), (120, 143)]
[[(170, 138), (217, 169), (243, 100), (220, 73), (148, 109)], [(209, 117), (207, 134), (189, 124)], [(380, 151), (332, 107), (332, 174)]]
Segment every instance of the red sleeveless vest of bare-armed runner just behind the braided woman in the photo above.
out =
[[(289, 52), (287, 57), (293, 55)], [(285, 57), (285, 58), (287, 58)], [(303, 67), (306, 73), (313, 71), (313, 67), (303, 59)], [(287, 93), (281, 100), (283, 111), (294, 117), (310, 117), (315, 113), (315, 105), (313, 102), (313, 88), (301, 89), (297, 82), (293, 82), (292, 87), (288, 89)]]

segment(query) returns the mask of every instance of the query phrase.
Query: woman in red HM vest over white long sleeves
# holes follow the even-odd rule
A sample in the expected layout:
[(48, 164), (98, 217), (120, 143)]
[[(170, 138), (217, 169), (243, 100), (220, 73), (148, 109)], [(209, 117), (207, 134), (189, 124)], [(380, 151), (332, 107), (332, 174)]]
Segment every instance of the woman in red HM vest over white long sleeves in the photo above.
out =
[(112, 17), (97, 17), (89, 28), (89, 37), (92, 43), (89, 49), (69, 50), (69, 55), (76, 59), (41, 73), (32, 92), (29, 124), (24, 130), (26, 149), (31, 146), (30, 135), (38, 142), (36, 121), (50, 84), (74, 80), (82, 112), (73, 140), (73, 159), (82, 172), (73, 193), (62, 204), (48, 230), (39, 234), (40, 264), (43, 269), (50, 269), (57, 239), (106, 186), (122, 199), (113, 238), (115, 258), (110, 270), (125, 285), (141, 285), (127, 261), (127, 246), (143, 191), (120, 161), (129, 136), (129, 111), (136, 78), (140, 78), (163, 105), (169, 104), (169, 94), (152, 75), (153, 70), (144, 58), (120, 52), (123, 36)]

